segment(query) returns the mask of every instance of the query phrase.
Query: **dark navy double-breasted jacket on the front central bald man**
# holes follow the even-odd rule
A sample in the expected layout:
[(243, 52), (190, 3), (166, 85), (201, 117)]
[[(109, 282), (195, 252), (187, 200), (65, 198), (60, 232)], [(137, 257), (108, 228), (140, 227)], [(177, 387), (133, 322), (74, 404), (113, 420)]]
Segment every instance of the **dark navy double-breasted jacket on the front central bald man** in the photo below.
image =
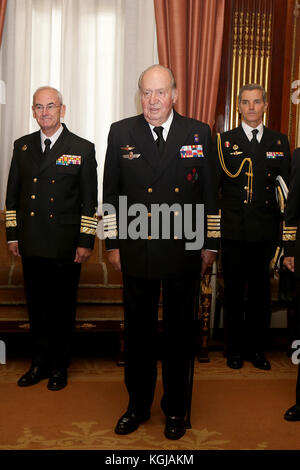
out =
[[(124, 237), (124, 226), (120, 222), (124, 218), (124, 210), (122, 212), (119, 208), (120, 196), (126, 196), (128, 208), (139, 203), (148, 214), (147, 230), (144, 230), (144, 224), (143, 236), (137, 239)], [(106, 247), (120, 249), (124, 273), (153, 279), (198, 275), (201, 248), (187, 250), (184, 229), (180, 237), (174, 226), (178, 220), (176, 217), (182, 217), (184, 225), (186, 214), (188, 224), (193, 220), (195, 229), (196, 205), (204, 204), (204, 246), (218, 248), (220, 227), (209, 126), (174, 111), (164, 152), (160, 156), (142, 114), (112, 124), (104, 168), (103, 202), (116, 210), (115, 215), (108, 210), (104, 216)], [(176, 204), (180, 209), (171, 211), (168, 238), (163, 238), (161, 226), (159, 237), (155, 237), (151, 229), (153, 205), (161, 204), (168, 207)], [(134, 218), (127, 217), (126, 228)]]

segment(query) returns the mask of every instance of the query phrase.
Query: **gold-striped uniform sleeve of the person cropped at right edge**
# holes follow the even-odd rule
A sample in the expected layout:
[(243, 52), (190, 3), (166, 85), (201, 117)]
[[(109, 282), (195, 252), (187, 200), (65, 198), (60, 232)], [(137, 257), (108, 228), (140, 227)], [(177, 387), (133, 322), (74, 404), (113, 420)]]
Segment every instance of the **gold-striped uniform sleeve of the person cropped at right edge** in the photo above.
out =
[(300, 149), (292, 160), (289, 193), (284, 217), (283, 246), (285, 256), (294, 256), (296, 233), (300, 218)]

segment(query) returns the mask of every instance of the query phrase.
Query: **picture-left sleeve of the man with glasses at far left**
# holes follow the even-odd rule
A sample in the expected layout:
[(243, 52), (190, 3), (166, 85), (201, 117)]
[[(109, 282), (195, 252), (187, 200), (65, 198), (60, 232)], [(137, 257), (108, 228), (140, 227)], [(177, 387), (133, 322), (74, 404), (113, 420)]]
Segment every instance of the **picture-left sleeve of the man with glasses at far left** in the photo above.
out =
[(17, 146), (14, 145), (13, 157), (10, 165), (7, 191), (6, 191), (6, 238), (7, 241), (18, 241), (18, 227), (17, 227), (17, 211), (19, 204), (19, 191), (20, 191), (20, 172), (17, 162)]

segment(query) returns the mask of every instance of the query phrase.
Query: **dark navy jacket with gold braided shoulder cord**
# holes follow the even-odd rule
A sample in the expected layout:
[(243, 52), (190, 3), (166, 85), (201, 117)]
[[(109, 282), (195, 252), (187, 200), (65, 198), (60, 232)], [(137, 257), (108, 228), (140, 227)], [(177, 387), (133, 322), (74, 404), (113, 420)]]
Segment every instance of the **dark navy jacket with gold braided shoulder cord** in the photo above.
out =
[[(224, 132), (215, 150), (220, 187), (221, 237), (231, 240), (278, 240), (280, 212), (276, 201), (276, 177), (288, 184), (290, 147), (287, 136), (264, 127), (257, 152), (252, 155), (242, 126)], [(218, 144), (217, 144), (218, 147)], [(221, 152), (220, 152), (221, 150)], [(221, 166), (220, 153), (229, 173)], [(245, 158), (251, 159), (251, 167)], [(251, 192), (252, 191), (252, 192)]]

